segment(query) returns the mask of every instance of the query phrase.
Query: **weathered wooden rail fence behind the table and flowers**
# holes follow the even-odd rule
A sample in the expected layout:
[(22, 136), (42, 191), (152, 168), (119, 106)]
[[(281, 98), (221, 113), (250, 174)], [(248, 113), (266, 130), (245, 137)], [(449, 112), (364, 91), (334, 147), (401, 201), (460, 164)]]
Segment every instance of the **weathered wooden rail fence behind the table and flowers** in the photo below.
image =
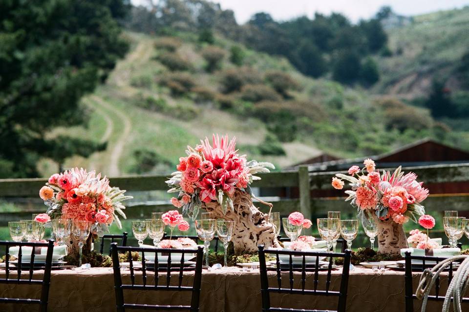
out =
[[(468, 182), (469, 163), (453, 165), (434, 165), (425, 167), (403, 168), (419, 176), (425, 184), (442, 182)], [(312, 198), (311, 190), (331, 189), (332, 172), (309, 172), (307, 166), (296, 171), (274, 172), (259, 175), (262, 179), (255, 181), (253, 187), (258, 188), (298, 188), (298, 198), (278, 198), (274, 211), (287, 215), (292, 211), (300, 211), (305, 216), (324, 215), (327, 211), (353, 212), (349, 203), (342, 196)], [(110, 178), (113, 186), (127, 191), (166, 191), (167, 176), (122, 176)], [(20, 211), (0, 211), (0, 226), (8, 221), (30, 218), (32, 213), (42, 213), (45, 206), (41, 205), (39, 189), (46, 182), (43, 178), (32, 179), (0, 179), (0, 200), (21, 202)], [(469, 190), (463, 194), (432, 194), (424, 202), (428, 211), (459, 210), (469, 211)], [(259, 206), (262, 205), (259, 204)], [(172, 206), (168, 200), (132, 202), (127, 205), (128, 219), (148, 217), (151, 212), (166, 211)], [(264, 207), (267, 210), (266, 207)]]

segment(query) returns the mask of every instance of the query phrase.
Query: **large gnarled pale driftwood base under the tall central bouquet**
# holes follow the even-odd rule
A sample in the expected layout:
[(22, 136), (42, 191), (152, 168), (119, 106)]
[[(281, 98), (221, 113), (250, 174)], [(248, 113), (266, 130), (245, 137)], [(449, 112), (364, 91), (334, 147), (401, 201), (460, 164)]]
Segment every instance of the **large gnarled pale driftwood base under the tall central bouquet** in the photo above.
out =
[(223, 214), (220, 204), (216, 202), (205, 203), (202, 206), (217, 219), (235, 221), (235, 235), (232, 239), (235, 254), (255, 254), (259, 244), (266, 247), (280, 247), (275, 227), (269, 222), (269, 215), (260, 212), (254, 206), (251, 195), (235, 191), (233, 207), (234, 210), (228, 207), (226, 214)]

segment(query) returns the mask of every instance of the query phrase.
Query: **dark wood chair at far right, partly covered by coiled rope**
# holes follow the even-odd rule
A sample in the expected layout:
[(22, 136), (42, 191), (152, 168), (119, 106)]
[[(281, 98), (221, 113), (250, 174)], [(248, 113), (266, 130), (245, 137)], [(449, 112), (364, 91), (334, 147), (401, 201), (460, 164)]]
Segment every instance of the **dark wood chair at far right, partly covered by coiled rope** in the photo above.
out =
[[(410, 252), (405, 253), (405, 312), (414, 312), (414, 299), (417, 296), (413, 290), (412, 272), (424, 272), (426, 269), (433, 268), (436, 264), (446, 260), (446, 257), (434, 256), (415, 256)], [(412, 267), (412, 260), (421, 260), (422, 265)], [(462, 261), (462, 260), (461, 260)], [(457, 262), (461, 262), (457, 261)], [(435, 264), (436, 262), (436, 264)], [(418, 277), (420, 278), (420, 276)], [(448, 266), (448, 285), (453, 278), (453, 262), (451, 261)], [(435, 280), (435, 292), (428, 295), (428, 301), (445, 301), (446, 293), (440, 293), (440, 277)], [(469, 297), (464, 297), (462, 302), (469, 302)], [(428, 304), (427, 304), (428, 306)], [(469, 307), (469, 306), (468, 306)]]

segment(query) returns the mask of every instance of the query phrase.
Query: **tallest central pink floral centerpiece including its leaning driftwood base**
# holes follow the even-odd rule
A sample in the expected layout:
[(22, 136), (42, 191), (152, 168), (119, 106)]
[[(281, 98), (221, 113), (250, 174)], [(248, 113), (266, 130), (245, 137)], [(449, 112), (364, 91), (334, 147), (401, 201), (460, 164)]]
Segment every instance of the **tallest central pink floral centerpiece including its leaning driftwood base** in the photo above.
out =
[(252, 201), (250, 184), (259, 179), (257, 173), (270, 172), (268, 162), (247, 161), (239, 155), (235, 138), (213, 135), (179, 158), (177, 171), (167, 181), (169, 193), (177, 193), (171, 203), (182, 212), (196, 218), (200, 209), (236, 222), (233, 244), (236, 254), (257, 252), (257, 245), (279, 246), (269, 215), (260, 212)]

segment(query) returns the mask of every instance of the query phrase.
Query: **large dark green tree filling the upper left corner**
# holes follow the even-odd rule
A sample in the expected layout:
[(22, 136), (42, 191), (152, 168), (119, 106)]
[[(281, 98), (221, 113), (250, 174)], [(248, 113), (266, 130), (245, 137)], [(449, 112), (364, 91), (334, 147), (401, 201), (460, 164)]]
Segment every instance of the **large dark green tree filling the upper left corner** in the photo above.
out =
[(44, 156), (63, 162), (102, 147), (45, 134), (86, 120), (80, 99), (128, 49), (117, 22), (127, 8), (117, 0), (0, 2), (2, 175), (38, 176), (36, 163)]

